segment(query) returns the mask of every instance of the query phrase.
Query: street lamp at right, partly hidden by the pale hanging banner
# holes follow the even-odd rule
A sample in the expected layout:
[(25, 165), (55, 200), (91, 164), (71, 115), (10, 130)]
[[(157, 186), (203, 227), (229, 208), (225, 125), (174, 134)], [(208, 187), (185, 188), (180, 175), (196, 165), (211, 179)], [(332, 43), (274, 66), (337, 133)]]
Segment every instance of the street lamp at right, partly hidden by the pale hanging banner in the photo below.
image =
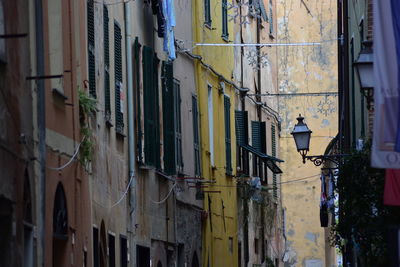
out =
[(371, 107), (374, 89), (373, 57), (372, 41), (364, 41), (363, 49), (360, 51), (357, 60), (353, 62), (353, 66), (357, 71), (358, 80), (360, 81), (361, 93), (367, 99), (368, 109)]

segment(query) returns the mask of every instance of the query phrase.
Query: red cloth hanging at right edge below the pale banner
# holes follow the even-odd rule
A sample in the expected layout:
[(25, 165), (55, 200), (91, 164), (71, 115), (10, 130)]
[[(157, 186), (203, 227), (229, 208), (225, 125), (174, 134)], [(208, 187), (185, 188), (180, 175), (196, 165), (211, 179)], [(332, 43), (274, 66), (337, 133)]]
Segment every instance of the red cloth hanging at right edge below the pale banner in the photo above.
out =
[(388, 206), (400, 206), (400, 170), (386, 169), (383, 203)]

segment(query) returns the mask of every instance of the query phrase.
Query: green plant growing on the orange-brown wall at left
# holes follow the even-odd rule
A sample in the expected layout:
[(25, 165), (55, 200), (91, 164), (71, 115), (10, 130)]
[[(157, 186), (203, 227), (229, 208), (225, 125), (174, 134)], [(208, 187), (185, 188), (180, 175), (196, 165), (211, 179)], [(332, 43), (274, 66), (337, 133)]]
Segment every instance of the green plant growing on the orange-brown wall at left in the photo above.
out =
[(97, 111), (96, 99), (90, 97), (82, 90), (79, 93), (79, 122), (81, 125), (82, 142), (80, 145), (80, 161), (86, 169), (93, 159), (93, 132), (89, 126), (89, 117)]

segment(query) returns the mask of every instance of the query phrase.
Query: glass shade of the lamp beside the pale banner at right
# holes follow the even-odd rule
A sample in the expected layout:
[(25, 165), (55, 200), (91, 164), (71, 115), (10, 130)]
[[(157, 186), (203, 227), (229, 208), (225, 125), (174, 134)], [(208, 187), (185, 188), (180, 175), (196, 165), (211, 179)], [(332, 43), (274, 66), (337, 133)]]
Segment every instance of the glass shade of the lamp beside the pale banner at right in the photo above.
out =
[(374, 87), (373, 53), (370, 50), (362, 50), (354, 62), (361, 88)]

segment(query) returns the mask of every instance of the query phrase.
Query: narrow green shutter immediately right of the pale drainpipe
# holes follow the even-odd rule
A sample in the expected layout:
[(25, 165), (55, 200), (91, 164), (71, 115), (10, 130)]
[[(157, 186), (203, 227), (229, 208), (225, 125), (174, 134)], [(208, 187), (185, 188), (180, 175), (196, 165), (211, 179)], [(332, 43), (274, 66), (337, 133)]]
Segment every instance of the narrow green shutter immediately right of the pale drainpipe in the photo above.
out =
[(134, 55), (135, 55), (135, 80), (136, 80), (136, 91), (135, 91), (135, 98), (136, 98), (136, 114), (135, 116), (136, 125), (138, 128), (138, 134), (137, 134), (137, 157), (139, 162), (143, 163), (143, 157), (142, 157), (142, 136), (143, 136), (143, 131), (142, 131), (142, 124), (141, 124), (141, 118), (142, 118), (142, 111), (141, 111), (141, 100), (140, 100), (140, 43), (139, 43), (139, 38), (135, 38), (135, 43), (134, 43)]

